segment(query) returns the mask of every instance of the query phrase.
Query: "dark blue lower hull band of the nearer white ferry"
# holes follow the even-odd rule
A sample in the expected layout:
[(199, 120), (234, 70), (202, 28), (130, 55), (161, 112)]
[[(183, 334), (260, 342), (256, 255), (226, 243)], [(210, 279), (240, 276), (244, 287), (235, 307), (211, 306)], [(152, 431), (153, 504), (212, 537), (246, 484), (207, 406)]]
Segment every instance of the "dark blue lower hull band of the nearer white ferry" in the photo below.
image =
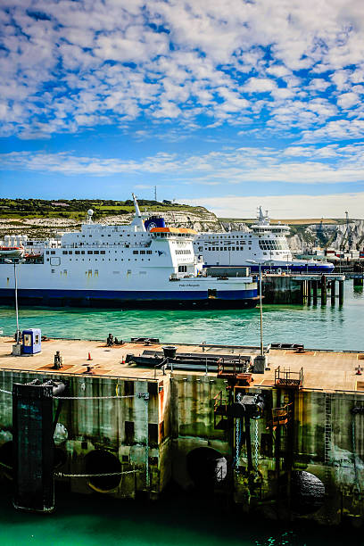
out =
[[(14, 302), (13, 289), (0, 289), (4, 304)], [(216, 297), (207, 291), (116, 291), (116, 290), (18, 290), (20, 305), (98, 308), (178, 308), (251, 309), (259, 301), (257, 290), (219, 290)]]

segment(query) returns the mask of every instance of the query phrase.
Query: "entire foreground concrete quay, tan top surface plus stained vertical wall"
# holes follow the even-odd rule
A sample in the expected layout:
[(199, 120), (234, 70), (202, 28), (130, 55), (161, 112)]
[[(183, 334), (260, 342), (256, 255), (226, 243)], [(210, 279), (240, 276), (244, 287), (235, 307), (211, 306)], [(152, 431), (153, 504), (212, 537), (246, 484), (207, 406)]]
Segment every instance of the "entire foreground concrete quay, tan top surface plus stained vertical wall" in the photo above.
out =
[[(255, 373), (243, 345), (176, 344), (171, 367), (160, 343), (51, 339), (21, 357), (12, 343), (0, 338), (0, 472), (18, 508), (54, 509), (54, 478), (153, 499), (173, 480), (264, 517), (364, 523), (364, 352), (268, 347)], [(40, 505), (24, 506), (29, 487)]]

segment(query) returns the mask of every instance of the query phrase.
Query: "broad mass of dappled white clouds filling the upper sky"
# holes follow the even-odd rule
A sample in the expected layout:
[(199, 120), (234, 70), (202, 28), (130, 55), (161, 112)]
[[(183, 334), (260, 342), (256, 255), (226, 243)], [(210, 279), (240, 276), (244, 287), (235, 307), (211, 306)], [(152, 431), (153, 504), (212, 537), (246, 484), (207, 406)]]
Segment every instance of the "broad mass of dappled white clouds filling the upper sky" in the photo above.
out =
[(363, 81), (357, 0), (21, 0), (4, 4), (0, 23), (2, 136), (127, 127), (139, 116), (213, 128), (244, 124), (248, 109), (268, 112), (269, 131), (320, 130), (335, 116), (329, 103), (352, 109)]

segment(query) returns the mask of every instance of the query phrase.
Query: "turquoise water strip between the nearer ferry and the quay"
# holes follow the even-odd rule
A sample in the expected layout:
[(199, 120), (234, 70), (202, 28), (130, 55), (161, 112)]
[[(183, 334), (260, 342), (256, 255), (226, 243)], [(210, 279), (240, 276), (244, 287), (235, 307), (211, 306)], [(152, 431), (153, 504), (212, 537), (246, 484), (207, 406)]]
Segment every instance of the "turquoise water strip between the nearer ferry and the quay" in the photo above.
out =
[[(119, 339), (150, 336), (164, 343), (227, 343), (258, 345), (260, 311), (253, 310), (103, 310), (23, 308), (20, 328), (40, 327), (42, 334), (73, 339)], [(0, 307), (0, 329), (13, 335), (14, 310)], [(315, 349), (364, 351), (364, 294), (344, 284), (343, 307), (327, 305), (263, 305), (264, 343), (303, 343)]]

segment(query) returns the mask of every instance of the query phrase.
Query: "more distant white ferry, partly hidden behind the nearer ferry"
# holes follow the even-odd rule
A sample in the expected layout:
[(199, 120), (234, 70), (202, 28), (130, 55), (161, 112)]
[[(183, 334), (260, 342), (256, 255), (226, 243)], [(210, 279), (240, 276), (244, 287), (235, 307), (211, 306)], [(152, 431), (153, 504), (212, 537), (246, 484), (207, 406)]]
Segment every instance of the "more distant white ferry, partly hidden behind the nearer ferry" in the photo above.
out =
[[(286, 236), (290, 227), (270, 224), (268, 213), (259, 217), (250, 229), (226, 233), (201, 233), (194, 239), (195, 254), (203, 255), (203, 267), (244, 266), (252, 272), (331, 273), (334, 264), (327, 261), (294, 260)], [(252, 262), (256, 261), (257, 264)]]

